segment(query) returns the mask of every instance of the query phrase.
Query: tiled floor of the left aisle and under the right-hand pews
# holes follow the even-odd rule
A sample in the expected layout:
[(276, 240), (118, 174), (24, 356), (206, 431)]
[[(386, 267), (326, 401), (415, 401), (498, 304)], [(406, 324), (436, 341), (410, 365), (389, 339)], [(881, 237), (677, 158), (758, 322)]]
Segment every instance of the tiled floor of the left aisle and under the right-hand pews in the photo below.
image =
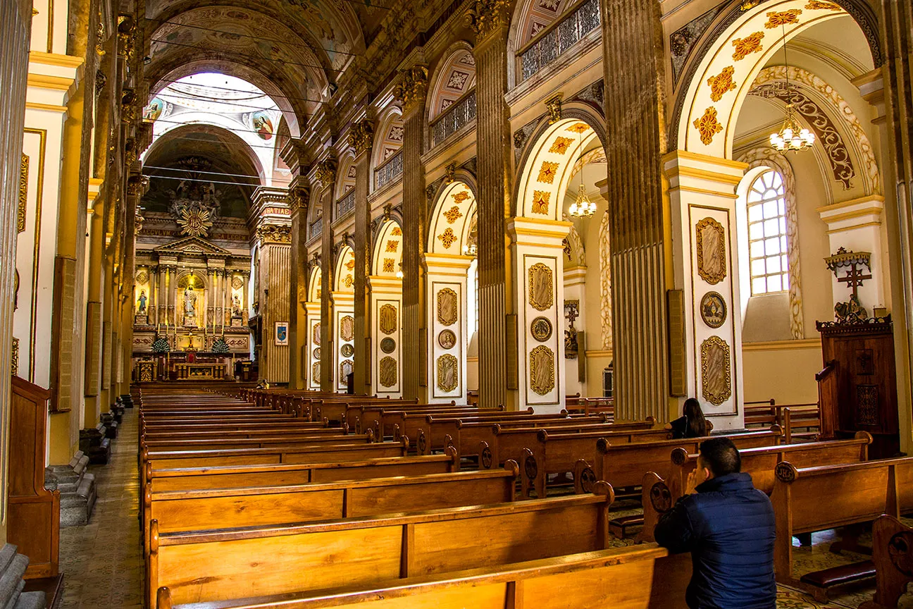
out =
[[(60, 530), (60, 568), (65, 575), (62, 609), (140, 609), (142, 607), (142, 556), (138, 516), (139, 478), (136, 467), (138, 412), (127, 410), (120, 436), (113, 442), (111, 462), (91, 466), (99, 500), (87, 526)], [(632, 506), (619, 502), (617, 515)], [(614, 514), (615, 515), (615, 514)], [(799, 573), (816, 571), (843, 562), (861, 560), (853, 554), (828, 551), (833, 531), (816, 533), (812, 548), (796, 548)], [(632, 541), (618, 541), (618, 545)], [(815, 603), (798, 590), (780, 586), (778, 609), (856, 609), (874, 592), (871, 584), (844, 590), (829, 604)], [(913, 593), (901, 599), (899, 609), (913, 609)]]

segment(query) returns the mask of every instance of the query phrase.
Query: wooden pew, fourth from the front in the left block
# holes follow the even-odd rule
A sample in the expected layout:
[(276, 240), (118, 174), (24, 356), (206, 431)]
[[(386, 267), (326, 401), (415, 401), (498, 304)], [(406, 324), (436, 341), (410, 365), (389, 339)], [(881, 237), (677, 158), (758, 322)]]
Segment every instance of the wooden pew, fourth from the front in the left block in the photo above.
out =
[(444, 455), (428, 457), (387, 457), (333, 463), (171, 468), (159, 468), (158, 465), (158, 461), (146, 462), (142, 478), (143, 496), (149, 480), (155, 480), (155, 488), (160, 490), (265, 487), (445, 474), (459, 470), (459, 459), (456, 450), (450, 449)]

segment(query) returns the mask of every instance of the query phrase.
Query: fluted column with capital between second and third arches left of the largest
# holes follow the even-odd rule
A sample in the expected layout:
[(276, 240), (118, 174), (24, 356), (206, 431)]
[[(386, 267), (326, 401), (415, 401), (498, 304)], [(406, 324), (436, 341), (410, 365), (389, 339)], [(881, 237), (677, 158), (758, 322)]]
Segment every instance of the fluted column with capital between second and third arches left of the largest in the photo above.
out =
[(403, 397), (425, 399), (425, 307), (422, 294), (428, 203), (422, 167), (425, 92), (428, 70), (415, 66), (403, 74), (394, 94), (403, 103)]

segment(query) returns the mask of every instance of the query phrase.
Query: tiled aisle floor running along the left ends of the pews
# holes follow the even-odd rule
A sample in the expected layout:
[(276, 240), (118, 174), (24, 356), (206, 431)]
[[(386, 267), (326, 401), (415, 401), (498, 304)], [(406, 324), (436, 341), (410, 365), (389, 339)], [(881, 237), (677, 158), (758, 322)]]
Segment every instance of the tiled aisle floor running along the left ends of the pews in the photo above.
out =
[(142, 607), (138, 417), (139, 409), (124, 412), (110, 463), (89, 467), (99, 491), (89, 524), (60, 530), (61, 609)]

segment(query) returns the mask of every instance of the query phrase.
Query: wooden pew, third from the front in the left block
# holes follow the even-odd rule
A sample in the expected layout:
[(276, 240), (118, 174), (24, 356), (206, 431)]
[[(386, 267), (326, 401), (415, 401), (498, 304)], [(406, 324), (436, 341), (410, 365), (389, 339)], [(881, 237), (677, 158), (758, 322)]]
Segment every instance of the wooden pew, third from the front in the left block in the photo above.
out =
[[(509, 503), (516, 499), (518, 477), (519, 467), (511, 461), (490, 471), (281, 487), (158, 490), (153, 478), (143, 498), (143, 530), (150, 530), (152, 520), (165, 533), (203, 530), (214, 522), (232, 529)], [(148, 542), (145, 551), (148, 555)]]

